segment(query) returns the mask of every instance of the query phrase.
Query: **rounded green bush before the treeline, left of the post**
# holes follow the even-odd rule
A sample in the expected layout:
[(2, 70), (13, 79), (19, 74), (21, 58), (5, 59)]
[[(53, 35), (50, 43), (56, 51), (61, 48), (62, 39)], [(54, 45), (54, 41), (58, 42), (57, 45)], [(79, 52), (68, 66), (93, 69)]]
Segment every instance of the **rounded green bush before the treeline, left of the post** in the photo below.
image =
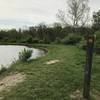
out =
[(62, 40), (63, 44), (75, 45), (81, 41), (82, 37), (78, 34), (69, 34)]

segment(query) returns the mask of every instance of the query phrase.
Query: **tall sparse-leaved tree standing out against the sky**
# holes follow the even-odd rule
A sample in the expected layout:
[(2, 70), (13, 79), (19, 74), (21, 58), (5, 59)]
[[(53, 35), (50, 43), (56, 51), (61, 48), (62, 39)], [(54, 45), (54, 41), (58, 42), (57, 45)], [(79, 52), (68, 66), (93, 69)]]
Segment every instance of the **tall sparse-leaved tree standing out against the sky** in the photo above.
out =
[(68, 0), (68, 11), (59, 10), (57, 17), (64, 25), (85, 26), (89, 18), (88, 0)]

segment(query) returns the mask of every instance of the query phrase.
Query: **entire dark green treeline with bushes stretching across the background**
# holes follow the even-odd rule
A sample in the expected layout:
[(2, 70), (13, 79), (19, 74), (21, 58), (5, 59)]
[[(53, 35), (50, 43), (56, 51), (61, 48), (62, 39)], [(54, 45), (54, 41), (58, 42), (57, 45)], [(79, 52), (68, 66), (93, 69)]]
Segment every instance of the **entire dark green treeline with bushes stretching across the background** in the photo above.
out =
[(27, 30), (1, 30), (0, 43), (78, 44), (79, 47), (84, 48), (86, 45), (85, 37), (87, 34), (96, 34), (97, 39), (95, 42), (95, 51), (100, 54), (100, 25), (98, 22), (96, 23), (96, 21), (91, 28), (75, 28), (72, 26), (62, 27), (60, 24), (48, 27), (44, 24), (41, 24), (39, 26), (29, 27)]

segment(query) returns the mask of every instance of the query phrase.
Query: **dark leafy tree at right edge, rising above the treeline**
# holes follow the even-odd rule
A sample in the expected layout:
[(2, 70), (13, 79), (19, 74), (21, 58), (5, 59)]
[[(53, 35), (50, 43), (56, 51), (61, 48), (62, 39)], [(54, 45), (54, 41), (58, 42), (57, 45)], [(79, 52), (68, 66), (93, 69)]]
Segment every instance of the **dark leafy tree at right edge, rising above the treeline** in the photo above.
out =
[(100, 10), (93, 14), (93, 28), (94, 30), (100, 30)]

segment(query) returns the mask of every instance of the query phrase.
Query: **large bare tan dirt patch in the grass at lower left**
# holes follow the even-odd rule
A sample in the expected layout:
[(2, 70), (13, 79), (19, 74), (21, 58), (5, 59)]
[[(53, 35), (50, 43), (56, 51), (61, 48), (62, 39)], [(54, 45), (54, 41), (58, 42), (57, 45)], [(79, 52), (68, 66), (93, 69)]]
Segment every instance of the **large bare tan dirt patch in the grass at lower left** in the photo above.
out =
[(25, 80), (25, 75), (21, 73), (12, 74), (0, 80), (0, 92), (22, 83)]

